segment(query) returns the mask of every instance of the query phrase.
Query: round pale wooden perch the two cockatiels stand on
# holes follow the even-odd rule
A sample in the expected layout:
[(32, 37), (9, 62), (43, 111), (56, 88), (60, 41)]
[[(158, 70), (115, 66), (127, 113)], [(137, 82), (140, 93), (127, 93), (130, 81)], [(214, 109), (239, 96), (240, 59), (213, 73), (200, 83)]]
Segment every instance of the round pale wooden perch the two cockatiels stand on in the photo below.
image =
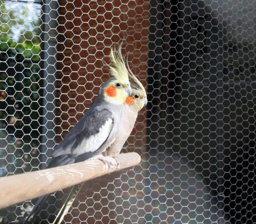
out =
[[(115, 160), (113, 159), (113, 161)], [(120, 169), (125, 169), (139, 164), (140, 156), (135, 152), (120, 154), (118, 161)], [(108, 168), (100, 160), (88, 160), (63, 167), (1, 177), (0, 209), (59, 191), (116, 170), (117, 166)]]

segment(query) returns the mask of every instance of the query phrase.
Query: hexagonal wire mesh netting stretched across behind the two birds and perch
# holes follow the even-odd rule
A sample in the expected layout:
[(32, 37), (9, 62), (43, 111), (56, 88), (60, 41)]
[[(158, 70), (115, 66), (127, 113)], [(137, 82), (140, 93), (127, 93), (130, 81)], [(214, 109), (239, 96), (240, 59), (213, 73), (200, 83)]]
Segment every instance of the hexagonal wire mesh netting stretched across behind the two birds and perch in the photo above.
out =
[(123, 39), (149, 103), (122, 152), (142, 162), (85, 183), (63, 223), (256, 223), (255, 24), (254, 0), (0, 0), (0, 175), (46, 167)]

